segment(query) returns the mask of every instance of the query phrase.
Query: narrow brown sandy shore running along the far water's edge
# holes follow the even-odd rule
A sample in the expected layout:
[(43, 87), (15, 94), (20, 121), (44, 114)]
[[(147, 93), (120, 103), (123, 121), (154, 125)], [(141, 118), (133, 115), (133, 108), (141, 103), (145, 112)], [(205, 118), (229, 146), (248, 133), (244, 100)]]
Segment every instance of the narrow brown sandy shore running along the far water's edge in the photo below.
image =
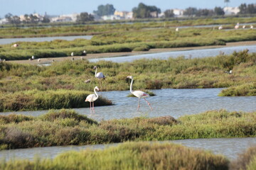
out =
[[(201, 47), (176, 47), (176, 48), (156, 48), (151, 49), (146, 52), (109, 52), (109, 53), (100, 53), (100, 54), (88, 54), (84, 58), (92, 59), (92, 58), (103, 58), (103, 57), (125, 57), (131, 55), (142, 55), (149, 53), (157, 53), (157, 52), (171, 52), (171, 51), (182, 51), (182, 50), (200, 50), (200, 49), (210, 49), (210, 48), (218, 48), (218, 47), (235, 47), (235, 46), (243, 46), (243, 45), (256, 45), (256, 41), (242, 41), (242, 42), (228, 42), (226, 45), (210, 45), (210, 46), (201, 46)], [(74, 56), (74, 60), (80, 60), (80, 56)], [(12, 60), (7, 62), (15, 62), (19, 64), (44, 64), (53, 62), (60, 62), (63, 60), (71, 60), (72, 57), (54, 57), (54, 58), (42, 58), (40, 62), (38, 60)]]

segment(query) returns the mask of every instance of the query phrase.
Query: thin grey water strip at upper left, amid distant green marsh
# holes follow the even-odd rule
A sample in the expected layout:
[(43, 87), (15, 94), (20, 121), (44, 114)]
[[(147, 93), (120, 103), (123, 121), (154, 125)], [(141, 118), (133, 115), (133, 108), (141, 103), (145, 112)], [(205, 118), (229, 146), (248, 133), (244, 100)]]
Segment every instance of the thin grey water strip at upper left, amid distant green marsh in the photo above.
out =
[(43, 42), (52, 40), (75, 40), (77, 38), (82, 38), (90, 40), (92, 35), (78, 35), (78, 36), (62, 36), (62, 37), (42, 37), (42, 38), (0, 38), (0, 45), (11, 44), (14, 42)]

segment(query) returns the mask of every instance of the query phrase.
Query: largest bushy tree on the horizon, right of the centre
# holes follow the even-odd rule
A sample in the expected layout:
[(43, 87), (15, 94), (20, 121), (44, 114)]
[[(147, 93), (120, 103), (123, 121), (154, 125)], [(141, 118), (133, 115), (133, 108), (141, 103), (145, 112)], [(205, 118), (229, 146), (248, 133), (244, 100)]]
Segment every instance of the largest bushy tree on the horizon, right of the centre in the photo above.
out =
[(132, 8), (134, 18), (152, 18), (151, 13), (155, 12), (156, 17), (158, 13), (161, 13), (161, 9), (156, 6), (146, 6), (143, 3), (139, 3), (138, 7)]

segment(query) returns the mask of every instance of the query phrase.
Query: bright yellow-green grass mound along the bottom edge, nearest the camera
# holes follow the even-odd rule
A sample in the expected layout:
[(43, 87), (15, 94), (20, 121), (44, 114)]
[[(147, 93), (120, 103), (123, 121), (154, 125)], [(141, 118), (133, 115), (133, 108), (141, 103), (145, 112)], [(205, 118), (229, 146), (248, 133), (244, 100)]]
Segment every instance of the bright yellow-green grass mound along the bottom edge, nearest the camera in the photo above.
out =
[(228, 169), (229, 161), (171, 143), (127, 142), (117, 147), (66, 152), (51, 159), (2, 161), (1, 169)]

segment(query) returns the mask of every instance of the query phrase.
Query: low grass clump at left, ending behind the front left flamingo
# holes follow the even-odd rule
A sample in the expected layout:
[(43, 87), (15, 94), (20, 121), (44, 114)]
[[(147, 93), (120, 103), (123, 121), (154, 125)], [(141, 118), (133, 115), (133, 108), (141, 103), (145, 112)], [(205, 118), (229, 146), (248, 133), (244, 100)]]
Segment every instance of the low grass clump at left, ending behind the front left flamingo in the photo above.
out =
[[(57, 90), (57, 91), (17, 91), (0, 96), (0, 111), (47, 110), (60, 108), (90, 107), (85, 103), (89, 91)], [(100, 96), (95, 106), (109, 106), (112, 102)]]

